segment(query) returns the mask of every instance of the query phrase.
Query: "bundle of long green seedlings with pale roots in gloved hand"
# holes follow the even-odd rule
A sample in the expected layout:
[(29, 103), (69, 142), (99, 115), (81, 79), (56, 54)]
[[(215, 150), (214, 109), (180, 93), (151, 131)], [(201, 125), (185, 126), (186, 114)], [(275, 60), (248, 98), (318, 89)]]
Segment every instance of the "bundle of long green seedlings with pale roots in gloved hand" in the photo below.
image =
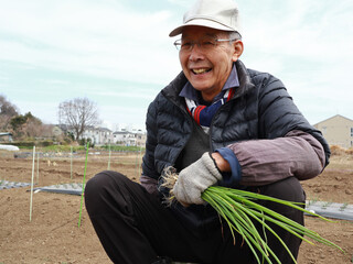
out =
[[(178, 180), (176, 169), (173, 167), (169, 167), (164, 170), (163, 174), (163, 187), (170, 189), (170, 196), (167, 198), (168, 204), (172, 204), (175, 201), (175, 197), (173, 195), (173, 186)], [(310, 216), (318, 217), (325, 221), (330, 221), (327, 218), (323, 218), (312, 211), (303, 209), (301, 202), (292, 202), (287, 200), (281, 200), (278, 198), (255, 194), (252, 191), (226, 188), (222, 186), (211, 186), (205, 189), (201, 198), (208, 202), (217, 213), (226, 221), (228, 224), (234, 243), (235, 243), (235, 234), (237, 232), (242, 235), (243, 240), (247, 243), (252, 252), (254, 253), (257, 263), (272, 263), (269, 258), (272, 256), (277, 263), (280, 263), (274, 251), (268, 246), (266, 241), (266, 233), (272, 233), (280, 244), (286, 249), (288, 254), (291, 256), (293, 263), (297, 263), (296, 258), (291, 254), (290, 250), (286, 245), (286, 243), (281, 240), (281, 238), (274, 231), (272, 228), (269, 227), (268, 222), (272, 224), (277, 224), (278, 227), (287, 230), (291, 234), (300, 238), (302, 241), (306, 241), (310, 244), (314, 244), (312, 241), (336, 248), (344, 252), (339, 245), (330, 242), (329, 240), (322, 238), (317, 232), (307, 229), (306, 227), (299, 224), (298, 222), (274, 211), (270, 210), (256, 201), (258, 200), (267, 200), (272, 202), (278, 202), (297, 210), (303, 211)], [(258, 229), (256, 229), (254, 222), (259, 222), (263, 227), (264, 234), (261, 235)], [(308, 239), (307, 239), (308, 238)], [(310, 240), (309, 240), (310, 239)]]

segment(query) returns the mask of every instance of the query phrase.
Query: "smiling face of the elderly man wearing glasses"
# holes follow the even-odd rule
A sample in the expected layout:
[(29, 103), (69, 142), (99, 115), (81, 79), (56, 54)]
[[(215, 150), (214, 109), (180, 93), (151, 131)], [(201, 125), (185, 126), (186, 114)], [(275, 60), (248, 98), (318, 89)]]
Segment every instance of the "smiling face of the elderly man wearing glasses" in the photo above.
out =
[[(226, 32), (204, 26), (188, 26), (182, 34), (183, 43), (205, 43), (207, 40), (220, 38), (227, 40), (229, 36)], [(196, 44), (190, 51), (182, 48), (179, 58), (191, 85), (201, 91), (204, 100), (212, 101), (222, 90), (231, 74), (233, 62), (236, 62), (240, 54), (237, 53), (235, 43), (218, 42), (214, 47), (206, 50), (200, 48)]]

